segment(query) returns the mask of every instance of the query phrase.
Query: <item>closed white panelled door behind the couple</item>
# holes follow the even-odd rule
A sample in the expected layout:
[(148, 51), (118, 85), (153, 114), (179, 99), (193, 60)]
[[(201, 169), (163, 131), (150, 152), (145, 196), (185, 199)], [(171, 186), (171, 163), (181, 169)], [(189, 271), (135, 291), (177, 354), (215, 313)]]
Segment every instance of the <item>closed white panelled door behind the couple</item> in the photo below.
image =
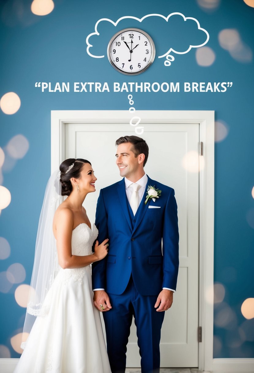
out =
[[(134, 135), (129, 124), (65, 125), (65, 158), (92, 163), (96, 192), (85, 200), (95, 220), (99, 190), (120, 180), (115, 165), (115, 140)], [(175, 189), (180, 233), (180, 268), (174, 302), (165, 313), (161, 332), (161, 367), (197, 367), (199, 322), (199, 124), (146, 123), (142, 137), (149, 145), (145, 171)], [(127, 347), (127, 366), (140, 367), (134, 322)]]

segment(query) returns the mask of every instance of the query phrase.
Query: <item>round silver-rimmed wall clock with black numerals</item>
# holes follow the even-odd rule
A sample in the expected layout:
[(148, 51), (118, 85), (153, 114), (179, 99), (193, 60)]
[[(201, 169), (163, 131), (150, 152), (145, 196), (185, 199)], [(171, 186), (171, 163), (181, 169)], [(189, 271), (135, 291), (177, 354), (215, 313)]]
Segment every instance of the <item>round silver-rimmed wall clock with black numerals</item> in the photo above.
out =
[(124, 74), (136, 75), (146, 70), (155, 57), (155, 46), (146, 32), (124, 29), (115, 34), (108, 44), (108, 59)]

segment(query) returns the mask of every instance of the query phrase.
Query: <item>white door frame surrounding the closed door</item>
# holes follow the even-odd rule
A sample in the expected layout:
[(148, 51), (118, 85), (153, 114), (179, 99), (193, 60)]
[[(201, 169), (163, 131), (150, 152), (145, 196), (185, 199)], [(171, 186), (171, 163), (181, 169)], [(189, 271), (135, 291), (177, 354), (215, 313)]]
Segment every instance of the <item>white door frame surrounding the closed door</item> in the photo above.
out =
[[(214, 116), (213, 110), (51, 110), (51, 173), (65, 154), (68, 123), (198, 123), (205, 167), (199, 172), (199, 369), (213, 369), (213, 263), (214, 263)], [(130, 131), (134, 127), (130, 125)], [(140, 131), (140, 130), (139, 130)], [(144, 132), (145, 133), (145, 132)], [(141, 135), (142, 136), (142, 135)], [(198, 147), (197, 147), (198, 150)]]

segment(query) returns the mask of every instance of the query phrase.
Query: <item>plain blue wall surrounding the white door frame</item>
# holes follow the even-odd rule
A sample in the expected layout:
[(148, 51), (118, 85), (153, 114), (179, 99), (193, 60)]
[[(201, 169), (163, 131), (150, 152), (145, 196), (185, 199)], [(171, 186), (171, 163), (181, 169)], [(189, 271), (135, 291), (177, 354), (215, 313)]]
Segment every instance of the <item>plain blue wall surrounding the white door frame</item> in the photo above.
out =
[[(13, 263), (21, 263), (26, 270), (22, 283), (30, 283), (39, 212), (50, 175), (50, 110), (127, 110), (129, 107), (126, 92), (73, 93), (70, 89), (69, 93), (42, 93), (34, 87), (35, 82), (106, 81), (110, 88), (114, 81), (173, 81), (180, 85), (185, 81), (233, 82), (225, 93), (181, 90), (179, 93), (138, 92), (133, 97), (134, 106), (139, 110), (215, 110), (216, 120), (226, 123), (227, 137), (215, 144), (214, 276), (215, 283), (224, 286), (225, 298), (215, 304), (214, 357), (251, 358), (254, 357), (254, 319), (244, 318), (241, 305), (245, 299), (254, 297), (254, 213), (251, 210), (254, 208), (251, 196), (254, 186), (254, 8), (242, 0), (218, 1), (218, 7), (211, 10), (201, 7), (200, 3), (204, 1), (129, 0), (122, 4), (104, 0), (89, 3), (55, 0), (53, 12), (40, 17), (31, 13), (30, 1), (1, 1), (0, 97), (14, 91), (20, 97), (21, 106), (13, 115), (0, 110), (0, 147), (5, 150), (11, 138), (22, 134), (29, 141), (29, 150), (16, 162), (6, 156), (2, 169), (2, 185), (11, 192), (12, 201), (1, 211), (0, 236), (9, 242), (11, 253), (0, 260), (0, 272)], [(187, 54), (174, 54), (175, 61), (169, 67), (163, 65), (164, 59), (156, 59), (143, 74), (128, 77), (113, 69), (107, 57), (95, 59), (86, 53), (86, 37), (100, 18), (116, 21), (126, 15), (141, 18), (149, 13), (167, 16), (172, 12), (198, 19), (201, 27), (209, 32), (206, 46), (216, 55), (211, 66), (199, 66), (193, 48)], [(105, 25), (95, 49), (107, 46), (115, 30), (127, 26), (142, 28), (135, 21), (125, 21), (122, 25), (115, 29)], [(154, 38), (155, 44), (167, 42), (165, 35), (160, 35), (158, 20), (144, 25), (143, 29)], [(218, 34), (223, 29), (239, 32), (245, 45), (240, 53), (242, 57), (234, 58), (220, 46)], [(189, 32), (198, 40), (194, 30)], [(184, 37), (186, 29), (175, 34), (171, 30), (170, 38), (178, 45)], [(249, 48), (247, 52), (246, 48)], [(7, 293), (0, 292), (0, 345), (9, 348), (11, 357), (19, 357), (11, 347), (10, 338), (20, 332), (25, 314), (25, 308), (20, 307), (14, 297), (19, 285), (13, 284)]]

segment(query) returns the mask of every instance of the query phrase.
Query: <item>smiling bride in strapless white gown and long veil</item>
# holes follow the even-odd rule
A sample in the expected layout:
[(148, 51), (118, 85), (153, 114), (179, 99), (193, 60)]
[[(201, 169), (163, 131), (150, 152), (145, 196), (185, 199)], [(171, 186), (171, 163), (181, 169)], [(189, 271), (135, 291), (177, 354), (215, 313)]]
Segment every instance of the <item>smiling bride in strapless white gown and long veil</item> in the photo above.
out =
[(48, 181), (15, 373), (111, 372), (90, 267), (107, 255), (108, 239), (92, 254), (98, 230), (82, 206), (96, 180), (89, 161), (67, 159)]

